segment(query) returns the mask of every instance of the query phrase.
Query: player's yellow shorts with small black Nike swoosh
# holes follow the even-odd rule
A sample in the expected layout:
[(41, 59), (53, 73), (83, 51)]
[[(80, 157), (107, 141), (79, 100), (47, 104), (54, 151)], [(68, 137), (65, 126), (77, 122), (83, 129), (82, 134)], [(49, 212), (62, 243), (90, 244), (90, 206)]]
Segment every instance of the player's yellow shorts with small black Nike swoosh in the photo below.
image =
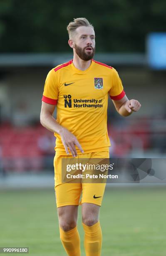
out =
[[(55, 196), (57, 207), (65, 205), (81, 205), (84, 202), (102, 205), (102, 199), (106, 183), (62, 183), (62, 158), (73, 158), (72, 156), (55, 155)], [(107, 158), (109, 152), (94, 152), (87, 154), (79, 154), (75, 159), (89, 158)], [(82, 193), (82, 198), (79, 202)]]

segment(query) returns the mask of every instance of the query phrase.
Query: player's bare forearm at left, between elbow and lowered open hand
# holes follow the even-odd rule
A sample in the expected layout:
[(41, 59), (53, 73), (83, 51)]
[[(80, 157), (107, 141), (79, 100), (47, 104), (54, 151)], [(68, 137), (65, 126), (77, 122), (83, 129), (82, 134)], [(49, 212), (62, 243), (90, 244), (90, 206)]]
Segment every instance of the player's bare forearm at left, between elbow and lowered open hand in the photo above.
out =
[(55, 120), (55, 118), (53, 118), (52, 115), (46, 115), (46, 114), (40, 115), (40, 123), (47, 130), (49, 130), (49, 131), (51, 131), (53, 133), (60, 134), (62, 129), (63, 129), (63, 127), (61, 125), (59, 125), (57, 120)]

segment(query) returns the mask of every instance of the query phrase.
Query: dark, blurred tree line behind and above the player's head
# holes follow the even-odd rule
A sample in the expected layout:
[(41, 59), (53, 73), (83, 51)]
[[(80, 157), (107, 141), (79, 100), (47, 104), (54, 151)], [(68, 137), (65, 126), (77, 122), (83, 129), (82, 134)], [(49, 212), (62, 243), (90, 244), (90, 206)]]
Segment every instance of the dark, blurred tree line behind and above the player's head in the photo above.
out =
[(0, 0), (0, 52), (66, 52), (67, 25), (86, 17), (98, 52), (144, 52), (149, 32), (166, 31), (166, 0)]

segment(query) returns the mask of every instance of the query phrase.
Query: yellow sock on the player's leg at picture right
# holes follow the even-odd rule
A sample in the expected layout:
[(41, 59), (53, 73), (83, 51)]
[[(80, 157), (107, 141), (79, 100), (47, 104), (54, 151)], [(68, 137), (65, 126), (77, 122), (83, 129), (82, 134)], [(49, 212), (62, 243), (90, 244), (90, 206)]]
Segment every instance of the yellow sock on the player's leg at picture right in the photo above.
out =
[(102, 249), (102, 230), (98, 221), (93, 226), (82, 223), (84, 228), (84, 248), (86, 256), (100, 256)]

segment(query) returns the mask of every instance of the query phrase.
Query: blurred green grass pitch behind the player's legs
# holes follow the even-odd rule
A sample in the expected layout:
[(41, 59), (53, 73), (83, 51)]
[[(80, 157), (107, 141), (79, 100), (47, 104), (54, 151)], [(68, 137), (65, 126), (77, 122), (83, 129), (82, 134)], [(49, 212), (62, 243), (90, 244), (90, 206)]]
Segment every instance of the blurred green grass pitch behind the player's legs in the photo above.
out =
[[(166, 256), (165, 202), (165, 187), (107, 189), (100, 210), (102, 256)], [(0, 247), (26, 246), (31, 256), (66, 255), (53, 189), (0, 190), (0, 230)]]

